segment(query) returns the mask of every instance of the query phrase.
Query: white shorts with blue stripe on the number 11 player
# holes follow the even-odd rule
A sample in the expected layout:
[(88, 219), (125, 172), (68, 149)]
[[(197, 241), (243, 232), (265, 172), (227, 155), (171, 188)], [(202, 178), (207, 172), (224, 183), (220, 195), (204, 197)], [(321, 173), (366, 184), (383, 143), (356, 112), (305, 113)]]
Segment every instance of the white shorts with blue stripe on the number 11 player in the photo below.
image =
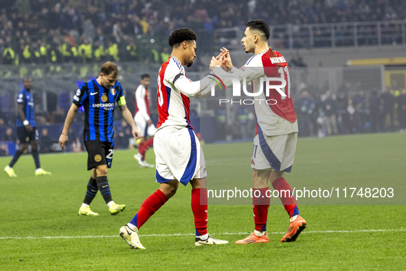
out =
[(275, 136), (258, 133), (253, 138), (251, 168), (291, 172), (296, 142), (297, 133)]

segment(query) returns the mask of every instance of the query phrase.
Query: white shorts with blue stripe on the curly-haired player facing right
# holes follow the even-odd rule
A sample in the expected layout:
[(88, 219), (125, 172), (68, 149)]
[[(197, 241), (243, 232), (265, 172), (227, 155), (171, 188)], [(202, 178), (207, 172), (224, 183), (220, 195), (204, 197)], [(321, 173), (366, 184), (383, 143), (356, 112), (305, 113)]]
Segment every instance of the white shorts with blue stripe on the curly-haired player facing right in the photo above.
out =
[(186, 186), (207, 176), (203, 150), (192, 129), (160, 129), (155, 133), (154, 152), (159, 183), (176, 179)]

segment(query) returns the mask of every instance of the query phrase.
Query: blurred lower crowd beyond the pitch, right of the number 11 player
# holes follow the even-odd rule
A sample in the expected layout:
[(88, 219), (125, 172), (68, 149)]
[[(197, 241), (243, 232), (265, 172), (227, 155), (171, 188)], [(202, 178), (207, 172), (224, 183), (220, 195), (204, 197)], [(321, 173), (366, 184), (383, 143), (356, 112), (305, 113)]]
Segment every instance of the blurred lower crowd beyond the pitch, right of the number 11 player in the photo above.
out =
[[(350, 86), (346, 85), (346, 89)], [(385, 92), (340, 91), (322, 96), (302, 94), (295, 102), (300, 136), (348, 133), (406, 133), (406, 89), (396, 84)]]

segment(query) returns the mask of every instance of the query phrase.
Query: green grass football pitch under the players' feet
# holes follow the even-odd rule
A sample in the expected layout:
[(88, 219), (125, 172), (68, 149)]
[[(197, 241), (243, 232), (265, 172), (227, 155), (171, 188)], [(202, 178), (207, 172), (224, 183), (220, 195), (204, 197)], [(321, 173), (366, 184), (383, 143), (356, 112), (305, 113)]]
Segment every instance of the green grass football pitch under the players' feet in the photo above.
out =
[[(86, 153), (41, 155), (52, 171), (44, 177), (34, 176), (34, 161), (24, 155), (14, 166), (19, 177), (0, 175), (0, 270), (406, 270), (405, 146), (406, 135), (397, 133), (300, 138), (285, 176), (292, 186), (393, 186), (395, 196), (298, 199), (308, 228), (294, 243), (279, 242), (289, 226), (279, 199), (269, 208), (270, 242), (248, 246), (234, 241), (253, 230), (249, 200), (210, 199), (208, 230), (229, 244), (194, 247), (190, 186), (180, 186), (141, 228), (146, 250), (130, 250), (117, 236), (158, 187), (155, 169), (139, 169), (135, 151), (115, 151), (109, 169), (113, 199), (126, 210), (109, 215), (98, 194), (91, 208), (99, 217), (77, 215), (90, 177)], [(203, 151), (209, 189), (251, 186), (251, 143), (206, 144)], [(9, 161), (0, 158), (2, 166)], [(152, 150), (147, 161), (154, 161)]]

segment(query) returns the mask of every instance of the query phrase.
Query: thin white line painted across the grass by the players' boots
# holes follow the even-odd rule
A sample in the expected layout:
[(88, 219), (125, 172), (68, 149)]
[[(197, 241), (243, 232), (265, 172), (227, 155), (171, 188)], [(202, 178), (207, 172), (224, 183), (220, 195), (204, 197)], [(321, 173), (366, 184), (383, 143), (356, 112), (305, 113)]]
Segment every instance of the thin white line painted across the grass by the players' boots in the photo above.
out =
[[(404, 232), (406, 228), (399, 229), (376, 229), (376, 230), (307, 230), (303, 233), (357, 233), (357, 232)], [(252, 232), (221, 232), (214, 235), (249, 235)], [(283, 235), (285, 232), (268, 232), (269, 235)], [(171, 237), (171, 236), (192, 236), (194, 233), (172, 233), (168, 235), (139, 235), (140, 237)], [(86, 235), (86, 236), (42, 236), (42, 237), (0, 237), (4, 239), (80, 239), (80, 238), (115, 238), (118, 235)]]

